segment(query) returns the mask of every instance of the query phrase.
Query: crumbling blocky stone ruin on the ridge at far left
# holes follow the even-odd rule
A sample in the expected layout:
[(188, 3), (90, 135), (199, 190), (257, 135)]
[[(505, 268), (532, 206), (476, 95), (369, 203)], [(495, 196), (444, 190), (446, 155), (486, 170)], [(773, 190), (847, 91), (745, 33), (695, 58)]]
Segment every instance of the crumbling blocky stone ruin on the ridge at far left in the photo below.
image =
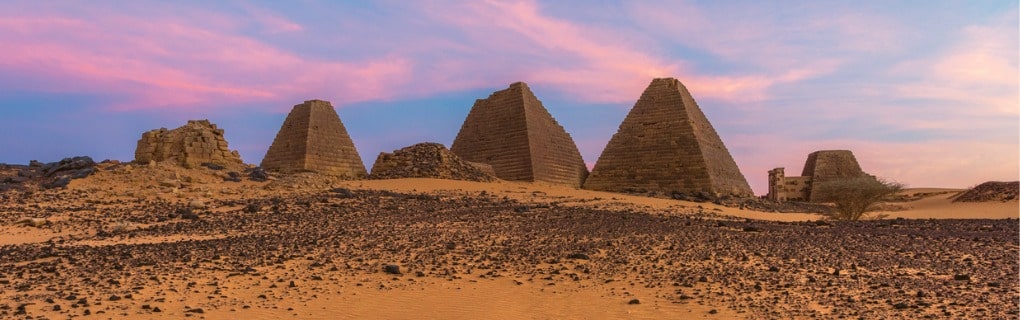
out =
[(223, 129), (209, 120), (189, 120), (188, 124), (172, 130), (162, 127), (142, 134), (135, 149), (135, 162), (170, 162), (186, 168), (204, 163), (244, 164), (241, 155), (227, 147)]

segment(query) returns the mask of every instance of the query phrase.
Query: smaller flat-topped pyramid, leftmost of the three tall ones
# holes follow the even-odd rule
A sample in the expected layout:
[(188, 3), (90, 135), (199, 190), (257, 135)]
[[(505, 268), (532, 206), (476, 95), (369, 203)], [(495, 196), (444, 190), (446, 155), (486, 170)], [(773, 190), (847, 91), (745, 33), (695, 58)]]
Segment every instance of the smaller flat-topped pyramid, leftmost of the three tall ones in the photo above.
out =
[(328, 101), (294, 106), (262, 159), (262, 168), (280, 172), (315, 171), (361, 178), (365, 165)]

